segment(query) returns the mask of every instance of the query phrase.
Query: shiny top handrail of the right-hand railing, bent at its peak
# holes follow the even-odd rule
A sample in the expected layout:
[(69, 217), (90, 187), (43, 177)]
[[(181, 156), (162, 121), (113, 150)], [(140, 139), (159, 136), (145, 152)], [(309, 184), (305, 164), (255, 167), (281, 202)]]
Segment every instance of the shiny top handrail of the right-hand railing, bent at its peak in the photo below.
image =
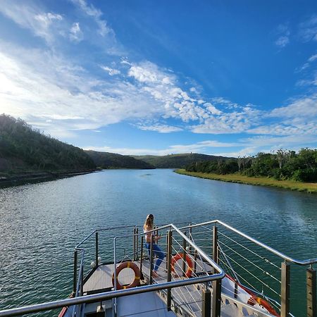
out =
[(299, 264), (300, 266), (307, 266), (309, 264), (313, 264), (313, 263), (317, 263), (317, 258), (315, 259), (306, 259), (306, 260), (297, 260), (297, 259), (293, 259), (290, 256), (287, 256), (286, 254), (283, 254), (282, 252), (269, 247), (267, 244), (260, 242), (259, 240), (254, 239), (253, 237), (250, 237), (249, 235), (246, 235), (245, 233), (243, 233), (240, 230), (237, 230), (233, 227), (231, 227), (231, 225), (228, 225), (227, 223), (224, 223), (221, 220), (211, 220), (211, 221), (207, 221), (206, 223), (195, 223), (194, 225), (187, 225), (185, 227), (180, 228), (179, 230), (183, 230), (183, 229), (187, 229), (187, 228), (195, 228), (195, 227), (199, 227), (202, 225), (210, 225), (212, 223), (219, 223), (220, 225), (223, 225), (225, 228), (230, 229), (233, 232), (236, 232), (238, 235), (241, 235), (242, 237), (245, 237), (247, 240), (254, 242), (255, 244), (259, 245), (260, 247), (263, 247), (264, 249), (267, 249), (268, 251), (270, 251), (271, 253), (280, 256), (280, 258), (284, 259), (285, 261), (289, 261), (291, 263), (295, 263), (295, 264)]

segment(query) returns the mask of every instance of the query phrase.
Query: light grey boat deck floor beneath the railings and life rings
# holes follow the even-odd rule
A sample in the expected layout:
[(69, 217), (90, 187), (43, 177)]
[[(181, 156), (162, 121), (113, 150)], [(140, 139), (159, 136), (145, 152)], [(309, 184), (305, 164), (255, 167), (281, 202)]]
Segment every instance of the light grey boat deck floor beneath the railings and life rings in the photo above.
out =
[[(137, 266), (140, 266), (139, 261), (135, 261)], [(113, 290), (113, 284), (112, 284), (112, 275), (113, 275), (113, 264), (104, 264), (99, 266), (94, 273), (89, 277), (87, 282), (85, 282), (84, 285), (84, 294), (93, 294), (97, 292), (102, 292), (106, 290)], [(206, 272), (211, 272), (212, 268), (208, 264), (204, 263), (203, 261), (197, 260), (197, 275), (200, 274), (206, 274)], [(144, 276), (144, 280), (142, 280), (142, 284), (147, 284), (149, 282), (149, 260), (145, 259), (142, 261), (142, 274)], [(181, 276), (181, 269), (178, 267), (175, 267), (175, 272), (178, 273), (180, 277), (173, 276), (173, 280), (180, 280), (183, 277)], [(153, 278), (153, 283), (162, 283), (166, 282), (167, 278), (167, 270), (166, 270), (166, 262), (163, 262), (161, 266), (159, 267), (159, 278)], [(132, 271), (132, 269), (125, 268), (123, 271), (120, 272), (120, 275), (118, 275), (118, 281), (121, 285), (129, 285), (135, 278), (135, 274)], [(188, 285), (183, 287), (175, 287), (173, 288), (171, 294), (172, 294), (172, 306), (178, 307), (176, 311), (181, 311), (182, 316), (201, 316), (201, 286), (202, 285)], [(157, 311), (156, 314), (149, 313), (147, 310), (147, 299), (145, 299), (145, 295), (139, 294), (137, 302), (139, 304), (135, 304), (130, 311), (129, 315), (132, 316), (158, 316)], [(163, 306), (159, 309), (163, 315), (160, 316), (175, 316), (174, 313), (168, 312), (166, 310), (166, 291), (159, 291), (156, 292), (156, 296), (158, 301), (155, 303), (156, 306)], [(144, 297), (144, 301), (142, 301), (142, 298)], [(118, 316), (125, 316), (125, 313), (123, 313), (123, 307), (126, 305), (123, 304), (127, 299), (124, 299), (125, 297), (121, 297), (118, 299)], [(130, 297), (132, 298), (132, 297)], [(135, 299), (137, 298), (137, 295), (135, 295)], [(141, 302), (140, 302), (141, 301)], [(153, 299), (151, 299), (153, 302)], [(129, 299), (130, 302), (130, 299)], [(122, 305), (121, 305), (121, 304)], [(120, 307), (121, 306), (121, 307)], [(130, 306), (130, 305), (128, 305)], [(235, 299), (230, 300), (223, 300), (222, 308), (221, 308), (221, 317), (242, 317), (242, 316), (271, 316), (267, 313), (262, 313), (259, 311), (253, 311), (248, 305), (240, 305), (238, 307), (237, 303), (235, 303)], [(144, 315), (145, 313), (145, 315)]]

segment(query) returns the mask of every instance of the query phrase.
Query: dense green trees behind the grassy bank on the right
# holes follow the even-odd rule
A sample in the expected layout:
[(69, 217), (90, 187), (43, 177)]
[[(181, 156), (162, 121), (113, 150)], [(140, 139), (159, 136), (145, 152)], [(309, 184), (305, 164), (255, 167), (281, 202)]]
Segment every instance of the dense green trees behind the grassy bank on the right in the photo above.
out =
[(255, 156), (237, 159), (191, 163), (189, 172), (231, 174), (250, 177), (266, 176), (277, 180), (317, 181), (317, 149), (301, 149), (298, 153), (279, 149), (272, 153), (260, 152)]

